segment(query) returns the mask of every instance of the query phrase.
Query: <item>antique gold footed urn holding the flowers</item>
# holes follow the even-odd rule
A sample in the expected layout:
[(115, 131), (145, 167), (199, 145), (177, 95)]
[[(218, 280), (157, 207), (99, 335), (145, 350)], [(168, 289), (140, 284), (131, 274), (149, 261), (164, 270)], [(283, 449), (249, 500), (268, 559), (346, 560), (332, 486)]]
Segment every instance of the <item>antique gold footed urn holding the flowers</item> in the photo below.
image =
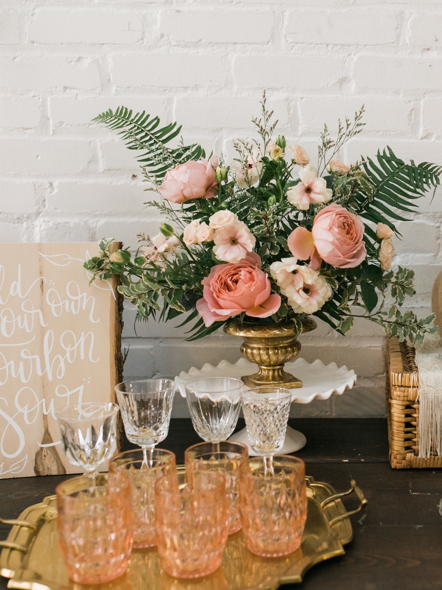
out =
[(277, 385), (287, 389), (302, 387), (300, 379), (284, 371), (284, 364), (294, 359), (301, 350), (298, 336), (316, 327), (316, 322), (309, 317), (301, 319), (301, 323), (301, 332), (293, 322), (253, 323), (232, 320), (225, 324), (224, 331), (227, 334), (243, 338), (242, 355), (258, 365), (258, 372), (241, 377), (246, 385)]

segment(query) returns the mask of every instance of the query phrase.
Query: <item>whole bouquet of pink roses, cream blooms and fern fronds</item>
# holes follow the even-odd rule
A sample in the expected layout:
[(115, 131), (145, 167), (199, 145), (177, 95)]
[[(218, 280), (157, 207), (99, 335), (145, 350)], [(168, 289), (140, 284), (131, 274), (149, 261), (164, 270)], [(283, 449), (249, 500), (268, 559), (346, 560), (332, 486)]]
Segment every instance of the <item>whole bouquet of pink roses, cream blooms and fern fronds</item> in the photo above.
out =
[(206, 154), (199, 145), (167, 143), (181, 127), (125, 107), (94, 120), (117, 129), (137, 158), (148, 190), (169, 223), (157, 235), (138, 235), (128, 248), (85, 263), (92, 279), (119, 276), (118, 287), (140, 319), (185, 314), (194, 340), (231, 318), (294, 322), (312, 315), (345, 335), (355, 317), (385, 333), (422, 342), (433, 316), (418, 319), (398, 307), (415, 293), (412, 270), (391, 268), (394, 222), (408, 221), (415, 200), (440, 183), (442, 166), (405, 163), (390, 148), (375, 158), (345, 165), (338, 150), (362, 130), (364, 107), (354, 120), (339, 120), (337, 138), (321, 133), (318, 165), (302, 146), (272, 139), (277, 121), (266, 107), (252, 119), (259, 140), (234, 142), (236, 158)]

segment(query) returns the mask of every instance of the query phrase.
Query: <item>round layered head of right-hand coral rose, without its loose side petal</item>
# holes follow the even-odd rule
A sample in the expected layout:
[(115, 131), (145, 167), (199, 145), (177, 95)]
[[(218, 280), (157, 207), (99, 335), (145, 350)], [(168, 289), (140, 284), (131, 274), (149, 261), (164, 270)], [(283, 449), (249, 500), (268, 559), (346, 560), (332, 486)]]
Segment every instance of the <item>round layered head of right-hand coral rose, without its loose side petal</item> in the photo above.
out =
[(367, 256), (362, 219), (341, 205), (327, 205), (313, 222), (312, 236), (319, 256), (337, 268), (354, 268)]

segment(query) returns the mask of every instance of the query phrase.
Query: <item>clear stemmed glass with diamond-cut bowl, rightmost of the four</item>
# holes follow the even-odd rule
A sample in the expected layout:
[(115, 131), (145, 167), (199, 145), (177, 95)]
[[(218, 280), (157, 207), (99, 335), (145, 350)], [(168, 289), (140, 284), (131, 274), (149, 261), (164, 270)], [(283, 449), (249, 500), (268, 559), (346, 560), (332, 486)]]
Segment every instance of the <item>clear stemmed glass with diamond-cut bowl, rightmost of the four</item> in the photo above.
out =
[(268, 385), (245, 389), (241, 394), (250, 447), (263, 455), (265, 466), (269, 460), (271, 473), (273, 455), (284, 444), (291, 401), (288, 389)]

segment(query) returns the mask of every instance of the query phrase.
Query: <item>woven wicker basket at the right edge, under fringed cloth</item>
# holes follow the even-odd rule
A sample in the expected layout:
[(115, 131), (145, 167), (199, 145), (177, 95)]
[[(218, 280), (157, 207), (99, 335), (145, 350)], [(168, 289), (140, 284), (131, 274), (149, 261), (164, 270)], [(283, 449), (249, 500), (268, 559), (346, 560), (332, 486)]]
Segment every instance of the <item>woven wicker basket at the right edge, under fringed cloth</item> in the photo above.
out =
[(442, 457), (418, 457), (419, 375), (414, 348), (387, 340), (387, 419), (390, 464), (394, 469), (442, 467)]

